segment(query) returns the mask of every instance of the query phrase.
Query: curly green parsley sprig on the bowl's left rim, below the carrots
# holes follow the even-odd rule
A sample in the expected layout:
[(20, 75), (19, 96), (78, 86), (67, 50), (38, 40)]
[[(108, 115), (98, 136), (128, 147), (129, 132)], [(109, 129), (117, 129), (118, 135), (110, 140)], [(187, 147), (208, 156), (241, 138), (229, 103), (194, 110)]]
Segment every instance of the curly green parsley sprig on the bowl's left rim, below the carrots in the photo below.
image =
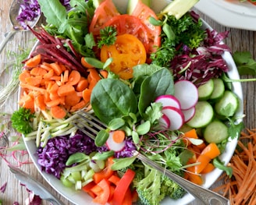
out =
[(34, 118), (34, 114), (30, 112), (30, 109), (20, 108), (18, 111), (14, 111), (11, 117), (13, 129), (25, 135), (31, 133), (33, 131), (30, 125), (31, 118)]

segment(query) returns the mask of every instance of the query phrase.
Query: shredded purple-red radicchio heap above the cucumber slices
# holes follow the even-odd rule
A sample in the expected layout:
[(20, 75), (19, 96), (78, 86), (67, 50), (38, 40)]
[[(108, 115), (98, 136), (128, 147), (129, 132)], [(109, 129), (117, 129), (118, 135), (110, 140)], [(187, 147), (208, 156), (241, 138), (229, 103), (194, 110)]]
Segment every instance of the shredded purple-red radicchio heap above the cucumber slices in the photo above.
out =
[(173, 58), (170, 69), (176, 80), (190, 80), (199, 87), (211, 78), (218, 78), (222, 72), (229, 71), (222, 58), (225, 51), (230, 52), (230, 48), (222, 43), (229, 32), (217, 33), (207, 29), (206, 33), (201, 47), (191, 51), (184, 45), (183, 53)]

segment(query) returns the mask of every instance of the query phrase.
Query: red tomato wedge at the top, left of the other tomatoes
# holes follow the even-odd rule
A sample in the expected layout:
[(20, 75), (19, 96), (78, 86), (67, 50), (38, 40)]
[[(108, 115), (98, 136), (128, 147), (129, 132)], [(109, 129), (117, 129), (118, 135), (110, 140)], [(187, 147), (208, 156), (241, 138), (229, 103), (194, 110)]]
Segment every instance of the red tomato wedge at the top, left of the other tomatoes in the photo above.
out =
[(94, 36), (100, 34), (100, 30), (103, 28), (104, 23), (111, 19), (113, 16), (119, 16), (120, 13), (116, 9), (116, 5), (112, 0), (105, 0), (101, 2), (98, 8), (94, 12), (94, 17), (91, 20), (89, 32)]

